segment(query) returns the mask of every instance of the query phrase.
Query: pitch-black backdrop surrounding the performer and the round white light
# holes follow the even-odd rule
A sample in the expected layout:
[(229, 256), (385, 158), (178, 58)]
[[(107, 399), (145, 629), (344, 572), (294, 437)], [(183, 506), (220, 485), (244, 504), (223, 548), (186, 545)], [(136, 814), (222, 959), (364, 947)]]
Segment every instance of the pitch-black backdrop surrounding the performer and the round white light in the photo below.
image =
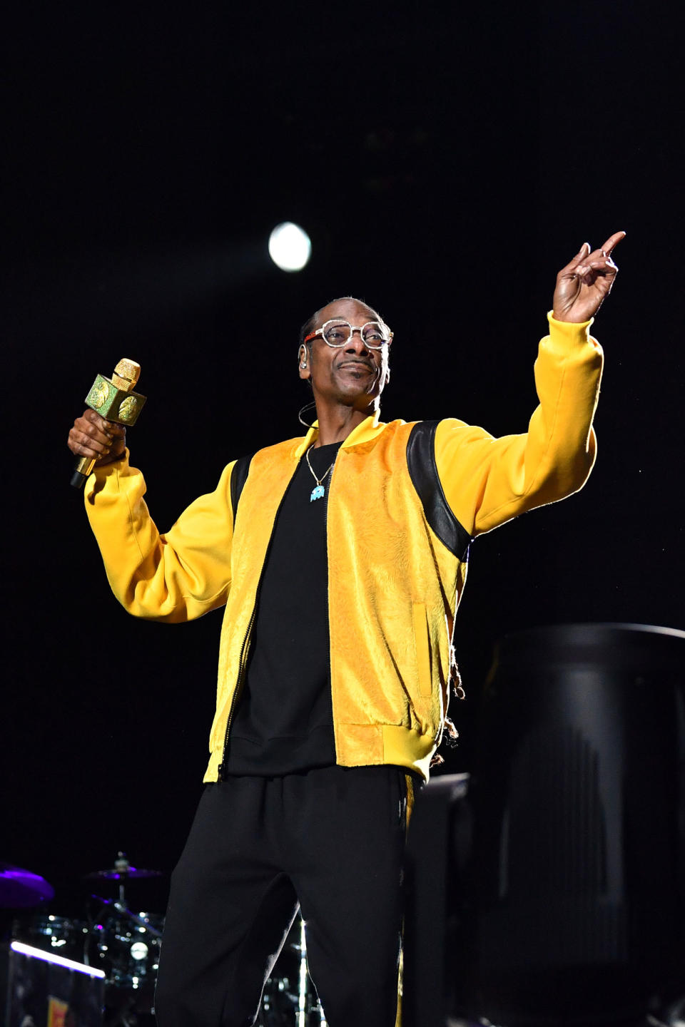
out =
[[(83, 875), (119, 848), (164, 874), (131, 905), (163, 910), (214, 709), (221, 613), (128, 617), (69, 487), (69, 427), (123, 355), (143, 368), (131, 460), (164, 529), (228, 460), (300, 433), (298, 329), (336, 296), (395, 332), (385, 420), (524, 431), (558, 269), (625, 229), (594, 329), (597, 467), (472, 547), (445, 769), (468, 769), (504, 633), (683, 626), (681, 17), (211, 0), (6, 24), (0, 859), (54, 885), (51, 912), (79, 913)], [(268, 259), (283, 220), (312, 239), (300, 274)]]

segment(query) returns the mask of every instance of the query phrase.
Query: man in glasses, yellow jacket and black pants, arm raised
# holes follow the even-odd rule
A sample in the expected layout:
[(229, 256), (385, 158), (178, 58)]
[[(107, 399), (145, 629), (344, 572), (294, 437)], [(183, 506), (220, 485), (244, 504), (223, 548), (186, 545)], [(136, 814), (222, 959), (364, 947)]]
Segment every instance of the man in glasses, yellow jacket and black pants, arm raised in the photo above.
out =
[(557, 277), (524, 434), (381, 422), (392, 333), (349, 297), (300, 336), (306, 435), (229, 463), (166, 534), (124, 429), (91, 410), (74, 422), (72, 452), (98, 458), (85, 506), (123, 606), (169, 622), (225, 606), (206, 786), (172, 879), (161, 1027), (254, 1023), (298, 903), (331, 1027), (395, 1023), (407, 814), (445, 728), (468, 545), (591, 472), (602, 350), (588, 329), (623, 234), (585, 243)]

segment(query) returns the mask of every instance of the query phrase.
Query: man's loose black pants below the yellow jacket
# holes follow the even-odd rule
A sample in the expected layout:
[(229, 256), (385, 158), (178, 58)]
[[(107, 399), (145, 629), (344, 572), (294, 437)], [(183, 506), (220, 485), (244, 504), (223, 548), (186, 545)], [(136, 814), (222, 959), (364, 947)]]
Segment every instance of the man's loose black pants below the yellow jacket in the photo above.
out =
[(407, 778), (327, 767), (207, 785), (172, 876), (159, 1027), (248, 1027), (298, 903), (331, 1027), (394, 1027)]

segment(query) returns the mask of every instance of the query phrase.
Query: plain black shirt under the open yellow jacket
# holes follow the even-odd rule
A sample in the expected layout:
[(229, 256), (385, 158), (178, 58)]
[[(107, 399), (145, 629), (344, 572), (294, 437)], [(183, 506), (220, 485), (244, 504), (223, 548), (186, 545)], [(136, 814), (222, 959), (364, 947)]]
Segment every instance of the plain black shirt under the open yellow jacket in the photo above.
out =
[[(317, 479), (340, 443), (309, 450)], [(336, 762), (331, 705), (325, 495), (303, 456), (276, 516), (258, 594), (242, 694), (231, 725), (229, 774), (283, 774)]]

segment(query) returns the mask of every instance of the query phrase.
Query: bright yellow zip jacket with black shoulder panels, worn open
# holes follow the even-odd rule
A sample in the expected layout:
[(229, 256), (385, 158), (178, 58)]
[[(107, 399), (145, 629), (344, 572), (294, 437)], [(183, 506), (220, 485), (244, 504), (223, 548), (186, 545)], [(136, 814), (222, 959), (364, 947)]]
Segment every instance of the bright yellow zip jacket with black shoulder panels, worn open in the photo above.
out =
[[(331, 689), (337, 762), (391, 763), (428, 776), (447, 712), (454, 616), (468, 541), (570, 495), (596, 456), (602, 350), (585, 325), (549, 317), (535, 364), (539, 406), (525, 434), (493, 439), (448, 419), (368, 418), (344, 441), (328, 496)], [(122, 460), (98, 468), (85, 505), (109, 582), (135, 616), (190, 620), (225, 604), (205, 781), (216, 781), (241, 683), (274, 519), (316, 438), (260, 450), (233, 515), (231, 476), (166, 534)], [(235, 483), (234, 483), (235, 484)]]

